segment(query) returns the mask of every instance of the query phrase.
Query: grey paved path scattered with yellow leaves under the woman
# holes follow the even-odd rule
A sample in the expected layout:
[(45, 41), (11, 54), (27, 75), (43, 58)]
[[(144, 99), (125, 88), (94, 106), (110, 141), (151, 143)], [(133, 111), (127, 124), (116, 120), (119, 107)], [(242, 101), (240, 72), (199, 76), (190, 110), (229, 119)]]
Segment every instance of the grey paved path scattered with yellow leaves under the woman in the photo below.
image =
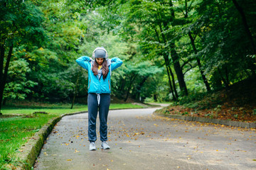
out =
[[(89, 151), (87, 113), (55, 126), (35, 169), (256, 169), (256, 131), (152, 115), (155, 108), (110, 111), (110, 150)], [(97, 131), (99, 130), (97, 123)]]

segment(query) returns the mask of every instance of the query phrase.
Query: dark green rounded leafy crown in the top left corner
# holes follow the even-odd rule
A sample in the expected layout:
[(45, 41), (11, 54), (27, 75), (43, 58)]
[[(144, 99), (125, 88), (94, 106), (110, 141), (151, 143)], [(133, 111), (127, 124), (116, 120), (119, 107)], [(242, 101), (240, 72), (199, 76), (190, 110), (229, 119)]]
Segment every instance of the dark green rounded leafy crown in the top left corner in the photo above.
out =
[(44, 38), (41, 11), (31, 1), (1, 1), (1, 43), (39, 44)]

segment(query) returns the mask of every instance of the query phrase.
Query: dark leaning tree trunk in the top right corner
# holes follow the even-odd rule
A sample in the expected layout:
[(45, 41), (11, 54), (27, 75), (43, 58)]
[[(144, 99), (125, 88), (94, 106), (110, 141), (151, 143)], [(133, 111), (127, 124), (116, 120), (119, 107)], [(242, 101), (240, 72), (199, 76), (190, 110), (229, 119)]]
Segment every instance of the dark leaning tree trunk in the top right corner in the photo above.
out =
[(252, 50), (253, 50), (254, 54), (256, 54), (256, 46), (255, 46), (255, 43), (253, 42), (252, 33), (250, 32), (250, 28), (249, 28), (246, 18), (245, 18), (245, 12), (242, 10), (242, 7), (238, 4), (238, 2), (236, 0), (232, 0), (232, 1), (233, 1), (233, 4), (235, 5), (235, 8), (238, 9), (238, 12), (240, 13), (240, 16), (242, 17), (242, 23), (243, 23), (243, 26), (245, 27), (245, 32), (247, 33), (247, 36), (250, 40), (250, 44), (252, 45)]

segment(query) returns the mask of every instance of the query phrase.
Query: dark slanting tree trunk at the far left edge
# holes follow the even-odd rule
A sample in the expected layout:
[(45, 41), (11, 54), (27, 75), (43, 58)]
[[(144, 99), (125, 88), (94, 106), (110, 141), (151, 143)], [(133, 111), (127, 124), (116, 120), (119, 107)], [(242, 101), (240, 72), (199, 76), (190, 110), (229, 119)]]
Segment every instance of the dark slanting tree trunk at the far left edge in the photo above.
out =
[[(3, 46), (1, 46), (1, 50), (2, 49), (3, 49)], [(13, 49), (14, 49), (14, 45), (11, 45), (11, 47), (9, 48), (9, 53), (8, 53), (7, 60), (6, 60), (6, 65), (5, 65), (5, 67), (4, 67), (4, 65), (1, 66), (1, 68), (4, 69), (4, 74), (2, 75), (2, 77), (0, 77), (0, 113), (1, 113), (3, 96), (4, 96), (4, 86), (6, 84), (7, 72), (9, 69), (9, 64), (11, 61), (11, 54), (12, 54)], [(4, 55), (4, 52), (1, 52), (1, 55)], [(0, 70), (0, 72), (3, 72), (3, 70)]]

